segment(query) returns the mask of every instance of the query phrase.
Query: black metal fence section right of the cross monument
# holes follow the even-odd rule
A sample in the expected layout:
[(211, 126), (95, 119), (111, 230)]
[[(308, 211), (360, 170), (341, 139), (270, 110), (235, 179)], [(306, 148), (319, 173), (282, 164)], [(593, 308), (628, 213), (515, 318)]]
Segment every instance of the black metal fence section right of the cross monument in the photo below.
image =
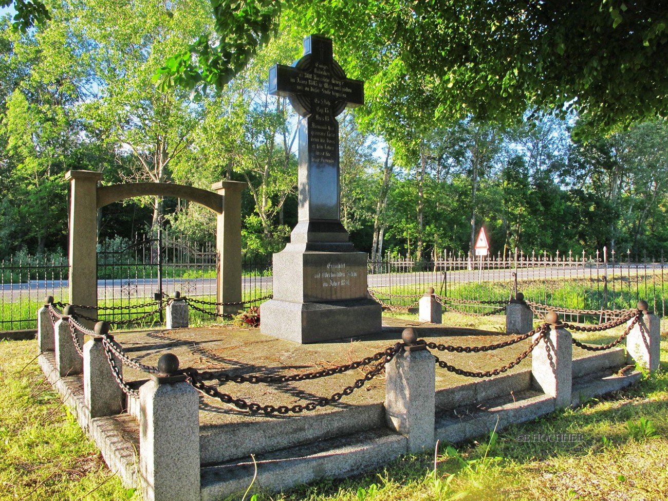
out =
[(663, 316), (667, 271), (663, 257), (638, 263), (630, 253), (620, 257), (606, 248), (590, 255), (516, 251), (476, 259), (446, 251), (432, 261), (392, 255), (369, 261), (369, 289), (409, 296), (434, 287), (442, 296), (478, 301), (508, 300), (520, 291), (531, 301), (570, 309), (631, 308), (645, 299)]

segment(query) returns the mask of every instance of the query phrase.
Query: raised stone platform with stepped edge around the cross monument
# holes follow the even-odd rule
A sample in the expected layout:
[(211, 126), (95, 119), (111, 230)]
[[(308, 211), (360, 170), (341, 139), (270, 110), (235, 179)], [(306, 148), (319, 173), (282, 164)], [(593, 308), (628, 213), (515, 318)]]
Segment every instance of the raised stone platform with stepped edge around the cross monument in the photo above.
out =
[[(419, 337), (428, 341), (450, 345), (488, 345), (507, 339), (498, 331), (434, 327), (399, 319), (386, 319), (383, 331), (375, 335), (314, 345), (297, 345), (257, 330), (226, 326), (115, 333), (115, 338), (128, 355), (148, 365), (155, 365), (160, 355), (170, 352), (179, 357), (182, 367), (224, 369), (231, 375), (275, 375), (335, 367), (371, 356), (399, 341), (405, 327), (414, 327)], [(463, 369), (486, 370), (514, 359), (526, 349), (526, 343), (484, 353), (438, 355)], [(637, 380), (637, 373), (620, 376), (611, 369), (621, 360), (622, 351), (591, 355), (574, 350), (574, 405)], [(41, 355), (39, 361), (65, 403), (75, 409), (82, 428), (96, 440), (112, 470), (128, 485), (136, 485), (136, 420), (128, 414), (90, 420), (83, 407), (81, 377), (55, 377), (53, 356), (49, 353)], [(588, 367), (597, 373), (587, 374)], [(492, 430), (497, 419), (502, 427), (552, 411), (553, 400), (530, 388), (529, 368), (530, 357), (500, 377), (474, 382), (438, 368), (436, 437), (452, 442), (468, 440)], [(354, 383), (364, 372), (357, 369), (313, 381), (271, 386), (228, 382), (220, 386), (220, 391), (261, 405), (291, 406), (329, 397)], [(146, 377), (127, 367), (124, 375), (134, 385)], [(202, 499), (222, 499), (244, 490), (253, 477), (251, 454), (259, 461), (259, 484), (274, 490), (322, 476), (361, 472), (405, 454), (405, 438), (384, 426), (384, 396), (384, 380), (377, 377), (338, 403), (312, 413), (253, 415), (202, 395)], [(132, 407), (132, 401), (129, 403)]]

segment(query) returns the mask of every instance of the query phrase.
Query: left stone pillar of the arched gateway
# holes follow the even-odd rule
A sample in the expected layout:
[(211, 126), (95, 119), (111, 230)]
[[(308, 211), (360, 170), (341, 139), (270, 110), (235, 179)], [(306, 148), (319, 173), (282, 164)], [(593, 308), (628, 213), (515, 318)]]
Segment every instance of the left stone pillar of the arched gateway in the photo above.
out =
[[(65, 180), (70, 182), (69, 200), (69, 296), (71, 305), (98, 305), (98, 181), (102, 172), (69, 170)], [(77, 309), (96, 318), (93, 309)], [(81, 319), (92, 327), (92, 322)], [(90, 325), (88, 325), (90, 324)]]

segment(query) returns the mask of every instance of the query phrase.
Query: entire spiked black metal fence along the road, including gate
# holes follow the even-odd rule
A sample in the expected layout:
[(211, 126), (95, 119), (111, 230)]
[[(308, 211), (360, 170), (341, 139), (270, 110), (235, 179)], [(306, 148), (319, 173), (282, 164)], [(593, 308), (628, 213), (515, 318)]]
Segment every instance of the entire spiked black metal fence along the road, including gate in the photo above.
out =
[[(137, 305), (175, 291), (215, 301), (217, 267), (211, 244), (196, 246), (178, 236), (102, 242), (98, 316), (109, 321), (137, 317), (155, 309)], [(577, 255), (518, 251), (472, 261), (466, 254), (447, 251), (422, 262), (387, 255), (369, 261), (368, 271), (369, 289), (397, 306), (414, 303), (414, 296), (434, 287), (443, 297), (477, 301), (505, 301), (520, 291), (530, 301), (570, 309), (623, 309), (645, 299), (657, 315), (666, 313), (668, 269), (663, 257), (633, 262), (629, 253), (620, 257), (605, 248)], [(242, 262), (244, 301), (270, 295), (272, 285), (271, 258)], [(67, 302), (68, 287), (65, 257), (1, 261), (0, 330), (34, 329), (45, 297)]]

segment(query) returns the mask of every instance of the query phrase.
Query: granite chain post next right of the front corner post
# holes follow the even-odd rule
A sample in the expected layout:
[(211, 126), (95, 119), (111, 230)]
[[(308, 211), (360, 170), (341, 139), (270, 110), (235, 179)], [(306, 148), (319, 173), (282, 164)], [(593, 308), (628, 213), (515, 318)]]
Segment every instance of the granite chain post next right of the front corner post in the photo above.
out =
[(426, 349), (400, 351), (385, 366), (387, 424), (408, 439), (409, 454), (434, 447), (436, 364)]

